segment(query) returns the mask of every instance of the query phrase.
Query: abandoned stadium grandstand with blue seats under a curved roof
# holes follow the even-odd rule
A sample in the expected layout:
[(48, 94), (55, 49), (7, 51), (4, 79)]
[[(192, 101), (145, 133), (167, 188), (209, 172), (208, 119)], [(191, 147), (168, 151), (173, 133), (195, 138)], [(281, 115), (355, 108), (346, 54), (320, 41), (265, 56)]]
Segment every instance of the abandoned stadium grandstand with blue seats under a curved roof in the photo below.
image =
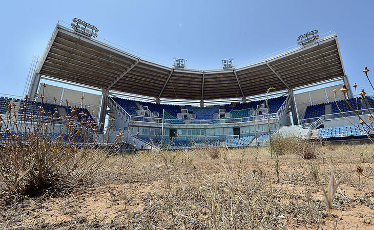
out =
[[(343, 95), (333, 89), (345, 83), (350, 104), (363, 114), (371, 112), (374, 99), (367, 94), (362, 103), (352, 94), (335, 32), (256, 63), (235, 66), (232, 61), (222, 61), (216, 70), (188, 68), (183, 59), (168, 66), (59, 21), (26, 83), (36, 103), (25, 101), (26, 92), (4, 95), (0, 113), (7, 113), (6, 103), (18, 110), (30, 103), (27, 113), (36, 113), (43, 103), (60, 117), (69, 116), (73, 106), (95, 125), (105, 124), (101, 133), (105, 127), (129, 130), (127, 141), (136, 139), (136, 148), (256, 146), (266, 143), (269, 129), (271, 135), (325, 140), (365, 137)], [(68, 86), (43, 86), (44, 81)], [(269, 87), (275, 90), (266, 95)], [(64, 121), (54, 122), (58, 133)]]

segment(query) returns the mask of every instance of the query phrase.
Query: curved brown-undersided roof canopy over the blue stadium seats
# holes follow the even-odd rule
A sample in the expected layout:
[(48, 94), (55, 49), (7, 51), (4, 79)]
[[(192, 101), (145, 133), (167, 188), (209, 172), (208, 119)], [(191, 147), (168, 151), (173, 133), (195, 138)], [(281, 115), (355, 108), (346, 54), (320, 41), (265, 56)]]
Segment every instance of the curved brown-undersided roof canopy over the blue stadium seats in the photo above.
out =
[(345, 75), (336, 34), (257, 64), (180, 70), (145, 61), (57, 25), (36, 73), (154, 98), (213, 100), (285, 90)]

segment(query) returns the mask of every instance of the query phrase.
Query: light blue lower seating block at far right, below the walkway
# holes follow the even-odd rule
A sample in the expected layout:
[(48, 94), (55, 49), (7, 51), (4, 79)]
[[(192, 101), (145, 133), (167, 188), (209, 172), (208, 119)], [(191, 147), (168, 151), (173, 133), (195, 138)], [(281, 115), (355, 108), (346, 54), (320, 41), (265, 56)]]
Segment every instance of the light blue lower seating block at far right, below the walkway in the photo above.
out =
[[(317, 138), (330, 138), (330, 137), (345, 137), (345, 136), (362, 136), (368, 132), (367, 127), (364, 129), (362, 125), (345, 125), (335, 127), (325, 127), (318, 130)], [(370, 131), (371, 134), (371, 131)]]

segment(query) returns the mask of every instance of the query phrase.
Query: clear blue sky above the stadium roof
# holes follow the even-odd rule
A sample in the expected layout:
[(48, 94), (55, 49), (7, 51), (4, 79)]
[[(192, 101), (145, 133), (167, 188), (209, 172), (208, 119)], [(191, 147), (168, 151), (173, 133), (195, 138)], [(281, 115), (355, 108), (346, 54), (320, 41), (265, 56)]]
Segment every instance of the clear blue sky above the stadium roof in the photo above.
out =
[[(350, 83), (374, 76), (373, 1), (6, 1), (0, 9), (0, 93), (21, 95), (32, 56), (43, 54), (58, 20), (78, 17), (130, 50), (188, 66), (219, 66), (296, 44), (310, 30), (335, 30)], [(374, 77), (373, 77), (374, 81)]]

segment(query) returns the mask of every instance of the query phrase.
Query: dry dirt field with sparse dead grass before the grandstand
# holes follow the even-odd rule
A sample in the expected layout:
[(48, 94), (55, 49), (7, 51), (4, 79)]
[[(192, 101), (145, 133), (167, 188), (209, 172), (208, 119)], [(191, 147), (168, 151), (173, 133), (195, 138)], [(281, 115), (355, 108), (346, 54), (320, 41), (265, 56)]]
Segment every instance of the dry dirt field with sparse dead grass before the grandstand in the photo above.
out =
[[(374, 146), (322, 152), (279, 156), (280, 182), (267, 148), (138, 152), (124, 175), (3, 202), (1, 228), (374, 229)], [(344, 179), (329, 211), (331, 169)]]

